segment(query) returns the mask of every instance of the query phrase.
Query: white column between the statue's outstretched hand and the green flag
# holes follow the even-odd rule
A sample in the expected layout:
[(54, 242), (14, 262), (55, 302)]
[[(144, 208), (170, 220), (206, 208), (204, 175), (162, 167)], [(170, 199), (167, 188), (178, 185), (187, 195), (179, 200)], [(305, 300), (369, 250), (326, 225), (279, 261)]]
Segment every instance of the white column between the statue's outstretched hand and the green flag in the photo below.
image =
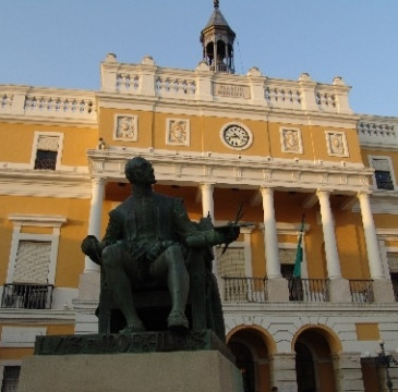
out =
[(275, 221), (274, 189), (261, 187), (264, 211), (264, 242), (268, 279), (281, 278), (278, 235)]

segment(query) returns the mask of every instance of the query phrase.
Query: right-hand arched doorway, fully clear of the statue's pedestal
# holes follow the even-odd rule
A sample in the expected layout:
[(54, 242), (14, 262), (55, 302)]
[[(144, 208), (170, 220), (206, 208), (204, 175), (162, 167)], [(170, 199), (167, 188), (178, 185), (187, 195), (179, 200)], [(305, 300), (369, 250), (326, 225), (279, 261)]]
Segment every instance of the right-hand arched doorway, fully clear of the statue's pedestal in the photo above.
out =
[(311, 328), (296, 340), (296, 373), (298, 392), (336, 392), (330, 336), (322, 329)]

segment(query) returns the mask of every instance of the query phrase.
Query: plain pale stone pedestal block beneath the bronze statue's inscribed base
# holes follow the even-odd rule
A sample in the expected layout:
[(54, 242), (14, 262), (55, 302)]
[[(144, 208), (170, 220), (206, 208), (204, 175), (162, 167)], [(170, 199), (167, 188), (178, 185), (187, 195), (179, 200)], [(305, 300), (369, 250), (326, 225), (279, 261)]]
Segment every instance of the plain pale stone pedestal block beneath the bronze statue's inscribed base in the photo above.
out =
[(241, 392), (218, 351), (36, 355), (23, 359), (19, 392)]

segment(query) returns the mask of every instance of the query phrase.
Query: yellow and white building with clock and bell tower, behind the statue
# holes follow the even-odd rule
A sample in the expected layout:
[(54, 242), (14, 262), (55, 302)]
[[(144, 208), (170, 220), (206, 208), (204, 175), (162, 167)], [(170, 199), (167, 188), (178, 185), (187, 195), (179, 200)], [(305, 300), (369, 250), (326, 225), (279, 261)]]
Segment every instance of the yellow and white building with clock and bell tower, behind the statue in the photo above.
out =
[(96, 91), (0, 85), (3, 385), (36, 335), (97, 331), (99, 271), (80, 244), (104, 235), (131, 192), (124, 163), (142, 156), (192, 220), (224, 224), (243, 205), (214, 273), (245, 391), (385, 390), (375, 351), (398, 347), (398, 118), (354, 113), (341, 77), (237, 75), (233, 38), (215, 5), (195, 70), (109, 53)]

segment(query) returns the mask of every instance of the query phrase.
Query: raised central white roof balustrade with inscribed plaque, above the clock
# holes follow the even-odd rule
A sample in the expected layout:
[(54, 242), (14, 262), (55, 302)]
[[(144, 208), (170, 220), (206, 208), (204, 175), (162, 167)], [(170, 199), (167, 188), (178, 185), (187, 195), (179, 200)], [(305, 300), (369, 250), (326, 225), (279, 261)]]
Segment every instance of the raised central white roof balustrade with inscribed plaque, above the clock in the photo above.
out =
[(195, 70), (155, 65), (150, 57), (140, 64), (122, 64), (110, 53), (101, 63), (101, 93), (140, 95), (153, 98), (190, 99), (254, 105), (322, 113), (351, 114), (348, 93), (341, 77), (333, 84), (314, 82), (303, 73), (298, 81), (263, 76), (252, 68), (246, 75), (215, 73), (201, 62)]

